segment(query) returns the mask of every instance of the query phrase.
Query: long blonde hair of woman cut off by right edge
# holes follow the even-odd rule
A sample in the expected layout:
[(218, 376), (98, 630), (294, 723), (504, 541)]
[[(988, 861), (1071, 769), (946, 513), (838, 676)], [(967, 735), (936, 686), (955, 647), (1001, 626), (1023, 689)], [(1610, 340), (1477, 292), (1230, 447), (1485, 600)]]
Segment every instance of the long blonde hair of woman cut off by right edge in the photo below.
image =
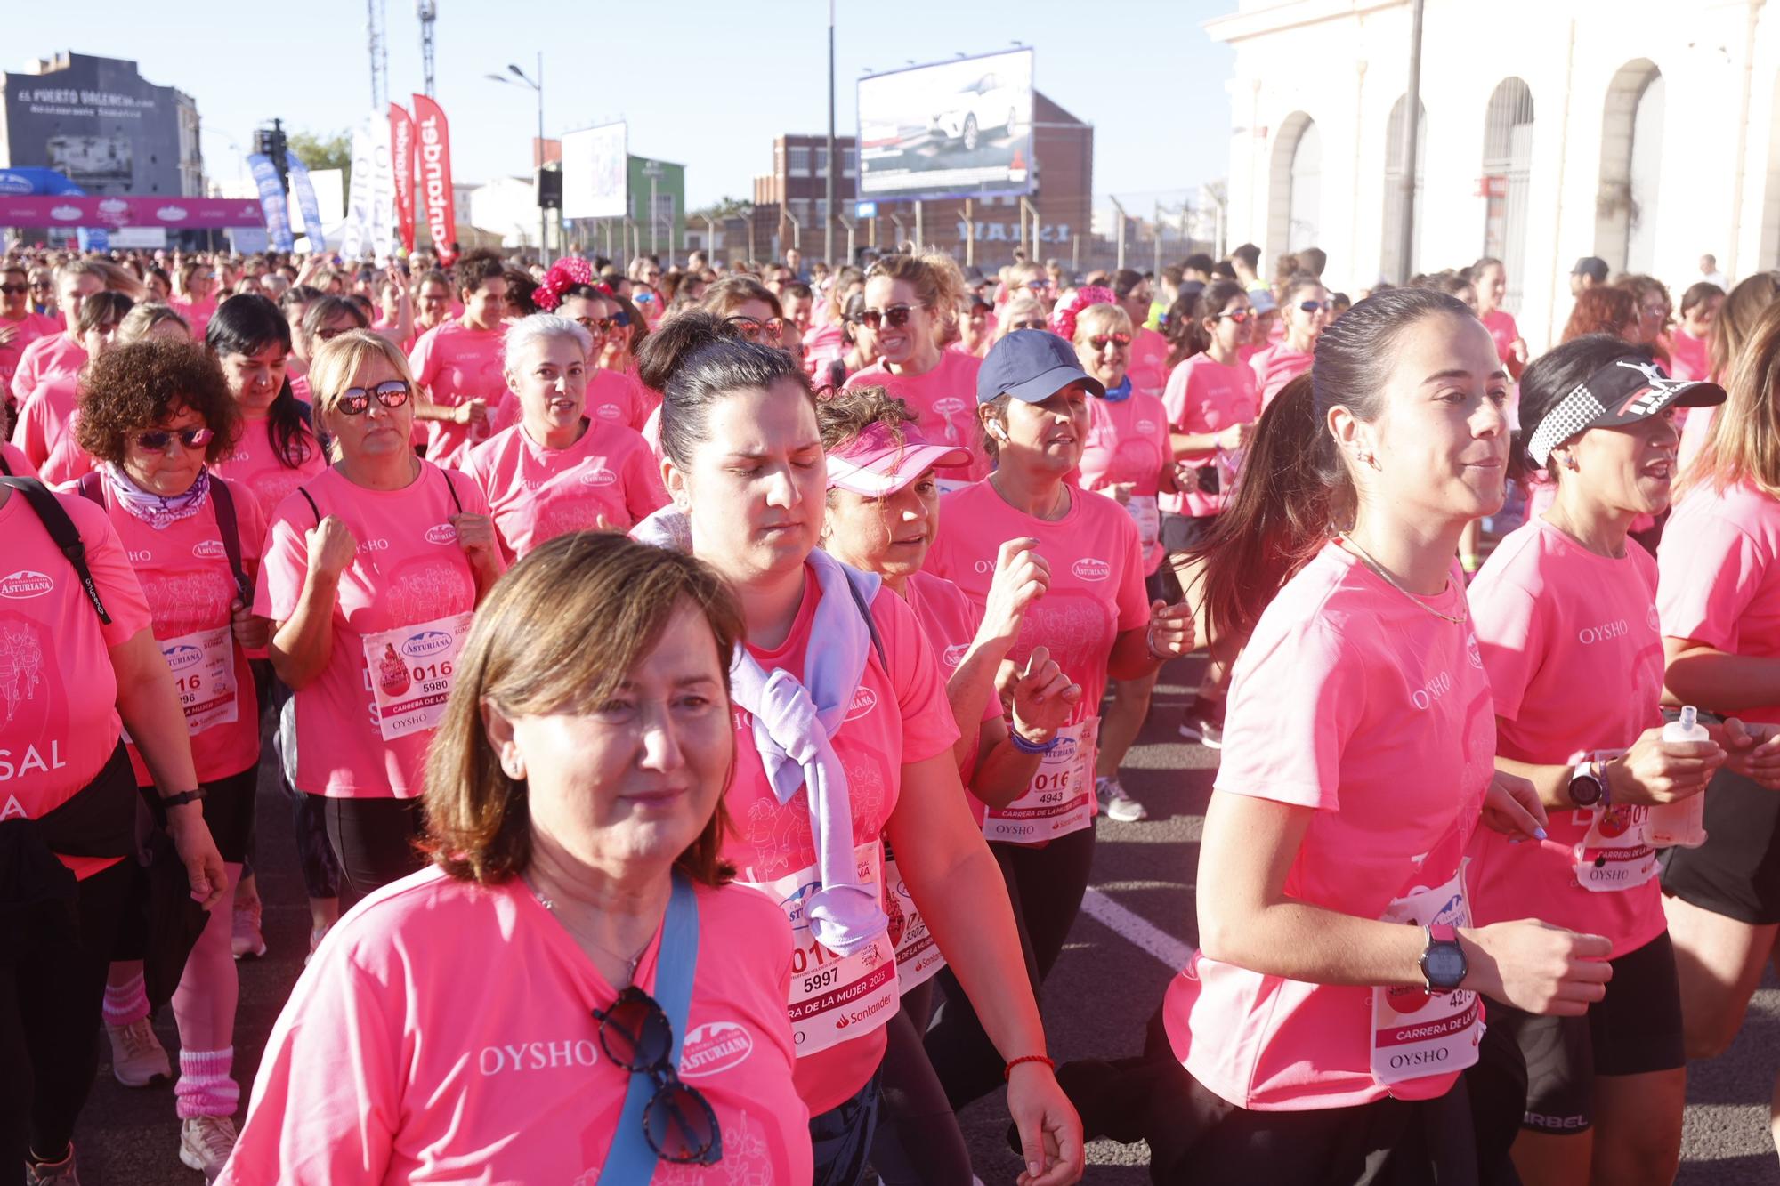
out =
[(1721, 491), (1748, 483), (1780, 499), (1780, 303), (1769, 305), (1750, 329), (1725, 392), (1728, 399), (1716, 410), (1675, 497), (1702, 484)]

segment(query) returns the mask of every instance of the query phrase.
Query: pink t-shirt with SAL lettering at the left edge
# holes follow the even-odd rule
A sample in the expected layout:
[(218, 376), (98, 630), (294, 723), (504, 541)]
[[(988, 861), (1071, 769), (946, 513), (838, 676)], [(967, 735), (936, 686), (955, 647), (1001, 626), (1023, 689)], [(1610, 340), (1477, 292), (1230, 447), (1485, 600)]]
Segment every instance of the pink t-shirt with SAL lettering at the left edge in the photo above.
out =
[[(110, 625), (100, 621), (25, 495), (0, 506), (0, 821), (39, 819), (110, 760), (123, 723), (110, 648), (146, 630), (148, 604), (105, 509), (55, 495), (87, 547)], [(64, 857), (77, 876), (116, 864)]]

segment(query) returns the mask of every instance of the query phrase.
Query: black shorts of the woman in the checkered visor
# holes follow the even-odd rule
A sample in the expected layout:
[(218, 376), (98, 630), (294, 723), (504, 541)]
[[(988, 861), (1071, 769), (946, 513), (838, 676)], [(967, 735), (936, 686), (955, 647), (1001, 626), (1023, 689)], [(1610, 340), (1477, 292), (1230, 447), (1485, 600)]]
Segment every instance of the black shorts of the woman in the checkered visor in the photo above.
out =
[(1675, 947), (1663, 931), (1613, 960), (1607, 995), (1582, 1017), (1538, 1017), (1490, 1001), (1490, 1028), (1511, 1033), (1527, 1060), (1527, 1115), (1536, 1133), (1595, 1124), (1595, 1076), (1639, 1076), (1687, 1063)]

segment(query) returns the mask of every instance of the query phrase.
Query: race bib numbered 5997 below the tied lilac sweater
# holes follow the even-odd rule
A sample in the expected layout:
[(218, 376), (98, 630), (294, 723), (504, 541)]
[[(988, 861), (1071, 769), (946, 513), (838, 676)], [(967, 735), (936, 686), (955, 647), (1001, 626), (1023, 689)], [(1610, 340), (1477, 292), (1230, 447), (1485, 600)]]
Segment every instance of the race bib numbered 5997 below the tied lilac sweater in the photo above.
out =
[[(853, 849), (860, 885), (883, 894), (883, 849), (874, 841)], [(796, 947), (790, 953), (790, 1036), (797, 1058), (826, 1051), (847, 1038), (870, 1033), (892, 1017), (901, 1003), (895, 974), (895, 944), (879, 935), (869, 947), (838, 956), (815, 940), (805, 905), (822, 887), (817, 867), (799, 869), (776, 881), (746, 881), (771, 894), (785, 917)]]

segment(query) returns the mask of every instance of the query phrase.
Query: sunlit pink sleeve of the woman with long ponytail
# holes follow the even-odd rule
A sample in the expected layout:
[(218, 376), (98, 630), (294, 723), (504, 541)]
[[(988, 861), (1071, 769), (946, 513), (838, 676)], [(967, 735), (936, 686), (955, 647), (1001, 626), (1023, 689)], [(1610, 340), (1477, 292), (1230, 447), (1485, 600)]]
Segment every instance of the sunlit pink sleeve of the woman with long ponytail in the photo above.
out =
[(1363, 661), (1323, 618), (1258, 634), (1237, 661), (1214, 789), (1340, 810), (1340, 755), (1365, 709)]

